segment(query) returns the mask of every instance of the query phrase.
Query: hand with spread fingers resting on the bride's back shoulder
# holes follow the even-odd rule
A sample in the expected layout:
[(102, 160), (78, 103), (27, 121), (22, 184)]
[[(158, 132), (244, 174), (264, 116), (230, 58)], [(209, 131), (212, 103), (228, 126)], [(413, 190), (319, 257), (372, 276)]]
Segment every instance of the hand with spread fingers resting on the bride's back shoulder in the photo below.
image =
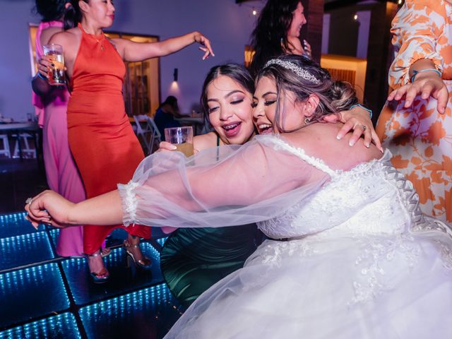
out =
[(370, 143), (373, 142), (376, 148), (383, 153), (381, 141), (376, 135), (369, 112), (366, 109), (356, 106), (338, 114), (329, 114), (323, 117), (323, 120), (327, 122), (343, 122), (344, 126), (342, 126), (337, 136), (339, 140), (353, 130), (352, 137), (350, 138), (350, 146), (355, 145), (358, 139), (364, 134), (364, 145), (369, 148)]

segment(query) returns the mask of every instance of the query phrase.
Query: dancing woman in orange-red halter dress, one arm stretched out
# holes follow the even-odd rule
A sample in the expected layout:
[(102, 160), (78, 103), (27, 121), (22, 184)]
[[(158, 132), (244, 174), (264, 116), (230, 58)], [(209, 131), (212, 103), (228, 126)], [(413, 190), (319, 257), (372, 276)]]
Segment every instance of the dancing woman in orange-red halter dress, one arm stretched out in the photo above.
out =
[[(199, 32), (154, 43), (110, 40), (102, 28), (113, 23), (112, 1), (75, 0), (71, 4), (73, 15), (80, 18), (80, 24), (54, 35), (50, 43), (61, 44), (64, 49), (72, 90), (68, 106), (69, 146), (81, 173), (86, 196), (92, 198), (116, 189), (119, 183), (129, 182), (144, 157), (124, 108), (124, 61), (165, 56), (193, 42), (202, 45), (203, 59), (213, 52), (209, 40)], [(42, 71), (47, 71), (47, 66), (40, 64)], [(109, 278), (100, 256), (100, 246), (116, 227), (129, 232), (124, 242), (126, 253), (138, 266), (150, 266), (150, 260), (143, 256), (138, 246), (140, 237), (150, 237), (149, 227), (85, 225), (83, 249), (88, 255), (95, 283), (103, 283)]]

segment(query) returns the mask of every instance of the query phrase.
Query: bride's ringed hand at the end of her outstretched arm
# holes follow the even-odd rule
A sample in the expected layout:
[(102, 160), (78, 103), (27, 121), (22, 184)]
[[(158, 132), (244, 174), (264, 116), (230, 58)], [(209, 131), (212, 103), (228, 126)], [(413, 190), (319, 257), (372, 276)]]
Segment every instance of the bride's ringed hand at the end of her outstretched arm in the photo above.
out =
[(69, 226), (69, 211), (74, 203), (54, 191), (43, 191), (34, 198), (27, 199), (25, 217), (37, 229), (40, 223), (64, 228)]

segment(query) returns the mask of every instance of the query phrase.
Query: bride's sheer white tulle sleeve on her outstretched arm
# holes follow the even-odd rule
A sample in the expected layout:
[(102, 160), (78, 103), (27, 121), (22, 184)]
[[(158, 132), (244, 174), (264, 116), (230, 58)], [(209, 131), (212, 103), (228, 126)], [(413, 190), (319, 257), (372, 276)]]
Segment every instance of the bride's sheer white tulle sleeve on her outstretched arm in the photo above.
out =
[(243, 146), (146, 157), (119, 184), (124, 225), (223, 227), (268, 220), (299, 203), (329, 177), (278, 147), (275, 136)]

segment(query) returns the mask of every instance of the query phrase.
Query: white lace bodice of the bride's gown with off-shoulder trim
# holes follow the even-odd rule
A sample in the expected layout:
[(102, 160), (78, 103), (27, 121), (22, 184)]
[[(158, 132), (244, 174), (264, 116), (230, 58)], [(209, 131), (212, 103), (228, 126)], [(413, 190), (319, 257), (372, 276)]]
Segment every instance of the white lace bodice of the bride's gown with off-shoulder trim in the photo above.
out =
[(279, 138), (276, 147), (293, 153), (326, 172), (331, 181), (309, 201), (301, 201), (276, 218), (258, 222), (270, 238), (295, 238), (309, 234), (396, 234), (426, 226), (419, 198), (409, 182), (391, 165), (391, 153), (350, 169), (333, 170)]

